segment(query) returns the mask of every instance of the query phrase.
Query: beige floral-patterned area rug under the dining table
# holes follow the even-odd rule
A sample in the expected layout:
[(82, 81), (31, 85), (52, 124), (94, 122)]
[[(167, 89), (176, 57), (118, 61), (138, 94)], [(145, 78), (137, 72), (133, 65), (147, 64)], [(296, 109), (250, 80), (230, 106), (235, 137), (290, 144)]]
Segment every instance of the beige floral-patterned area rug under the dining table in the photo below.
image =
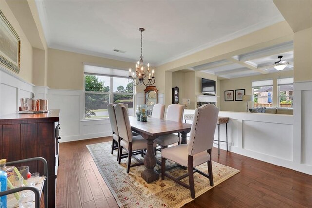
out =
[[(127, 159), (122, 159), (121, 164), (118, 164), (117, 150), (113, 155), (110, 153), (111, 142), (87, 145), (87, 148), (120, 207), (177, 208), (193, 200), (189, 189), (176, 184), (167, 177), (165, 180), (161, 180), (160, 177), (155, 182), (146, 183), (141, 178), (141, 172), (145, 170), (143, 165), (131, 167), (127, 174)], [(140, 156), (138, 157), (140, 158)], [(157, 157), (160, 159), (160, 152), (157, 152)], [(170, 161), (167, 160), (167, 162), (166, 166), (172, 165)], [(134, 163), (137, 163), (137, 160), (132, 159), (131, 164)], [(239, 172), (239, 170), (214, 161), (212, 166), (214, 187)], [(197, 166), (197, 168), (208, 173), (207, 163)], [(157, 165), (155, 169), (160, 169), (160, 166)], [(187, 170), (176, 167), (169, 173), (178, 177), (187, 173)], [(188, 184), (188, 177), (183, 181)], [(194, 183), (195, 197), (213, 188), (209, 185), (209, 179), (199, 173), (194, 174)]]

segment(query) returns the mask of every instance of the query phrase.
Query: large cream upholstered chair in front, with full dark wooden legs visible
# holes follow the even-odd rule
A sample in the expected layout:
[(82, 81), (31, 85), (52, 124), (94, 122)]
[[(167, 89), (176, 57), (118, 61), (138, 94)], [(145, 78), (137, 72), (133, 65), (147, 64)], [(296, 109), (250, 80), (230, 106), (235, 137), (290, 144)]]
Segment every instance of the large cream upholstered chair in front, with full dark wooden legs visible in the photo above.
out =
[[(194, 176), (195, 172), (209, 178), (210, 186), (214, 186), (211, 149), (215, 137), (215, 127), (218, 119), (219, 109), (214, 104), (205, 104), (195, 110), (194, 120), (190, 132), (189, 144), (181, 144), (163, 149), (161, 152), (161, 179), (165, 176), (174, 180), (176, 183), (190, 189), (191, 197), (195, 199)], [(174, 178), (165, 172), (166, 159), (171, 160), (181, 166), (188, 168), (188, 173)], [(208, 175), (200, 170), (195, 169), (207, 162)], [(194, 170), (194, 171), (193, 171)], [(189, 185), (180, 181), (189, 176)]]

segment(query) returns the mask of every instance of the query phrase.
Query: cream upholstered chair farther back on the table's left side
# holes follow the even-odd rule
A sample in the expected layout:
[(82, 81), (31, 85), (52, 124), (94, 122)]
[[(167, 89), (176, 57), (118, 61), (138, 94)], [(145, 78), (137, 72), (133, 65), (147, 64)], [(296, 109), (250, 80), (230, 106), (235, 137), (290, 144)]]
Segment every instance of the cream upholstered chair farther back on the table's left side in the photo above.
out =
[[(122, 104), (122, 105), (125, 106), (125, 108), (128, 111), (128, 105), (127, 104)], [(118, 133), (118, 127), (117, 127), (116, 114), (115, 114), (114, 107), (115, 107), (114, 104), (108, 104), (107, 105), (108, 116), (109, 116), (109, 120), (110, 120), (110, 124), (111, 124), (111, 128), (112, 128), (112, 133), (113, 133), (111, 154), (113, 154), (113, 151), (115, 149), (118, 149), (118, 154), (117, 154), (117, 161), (118, 161), (120, 138), (119, 138), (119, 133)], [(139, 134), (136, 132), (132, 132), (132, 135), (137, 136)]]

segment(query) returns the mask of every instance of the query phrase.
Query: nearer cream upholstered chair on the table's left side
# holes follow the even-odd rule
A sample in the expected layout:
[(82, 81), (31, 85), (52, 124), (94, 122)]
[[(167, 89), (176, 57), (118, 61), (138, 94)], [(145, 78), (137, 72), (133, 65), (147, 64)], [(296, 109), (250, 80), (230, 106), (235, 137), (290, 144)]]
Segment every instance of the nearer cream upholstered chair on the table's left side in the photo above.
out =
[[(131, 125), (127, 110), (122, 104), (115, 105), (116, 121), (120, 137), (118, 163), (121, 163), (122, 158), (128, 158), (127, 173), (130, 167), (143, 165), (143, 162), (136, 157), (137, 154), (143, 154), (143, 150), (147, 148), (146, 139), (142, 136), (132, 136)], [(154, 142), (154, 147), (156, 147)], [(128, 156), (122, 155), (122, 150), (128, 151)], [(134, 157), (139, 163), (131, 165), (131, 157)]]

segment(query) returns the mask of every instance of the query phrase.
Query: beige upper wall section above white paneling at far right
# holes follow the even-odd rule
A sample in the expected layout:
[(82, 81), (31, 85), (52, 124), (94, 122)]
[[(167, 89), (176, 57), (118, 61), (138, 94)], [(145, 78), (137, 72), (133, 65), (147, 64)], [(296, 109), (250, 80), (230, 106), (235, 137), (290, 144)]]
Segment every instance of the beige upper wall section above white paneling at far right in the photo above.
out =
[(294, 81), (312, 80), (312, 28), (294, 34)]

